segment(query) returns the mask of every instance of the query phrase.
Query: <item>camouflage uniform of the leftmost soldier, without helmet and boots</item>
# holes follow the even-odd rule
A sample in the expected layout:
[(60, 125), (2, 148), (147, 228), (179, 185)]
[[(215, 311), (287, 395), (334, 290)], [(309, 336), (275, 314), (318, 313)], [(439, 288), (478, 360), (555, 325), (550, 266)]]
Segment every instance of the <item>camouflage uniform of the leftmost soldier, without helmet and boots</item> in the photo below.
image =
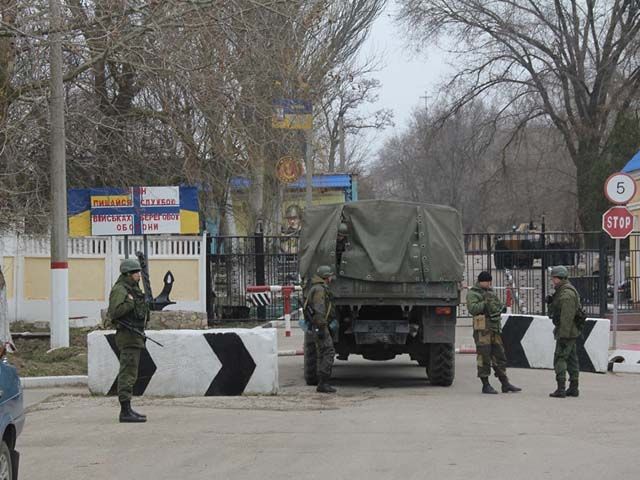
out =
[(118, 373), (118, 399), (131, 401), (133, 386), (138, 378), (138, 365), (144, 346), (144, 338), (134, 334), (119, 322), (127, 322), (138, 330), (144, 330), (148, 313), (144, 293), (130, 275), (120, 275), (109, 295), (109, 316), (116, 327), (116, 346), (120, 350)]

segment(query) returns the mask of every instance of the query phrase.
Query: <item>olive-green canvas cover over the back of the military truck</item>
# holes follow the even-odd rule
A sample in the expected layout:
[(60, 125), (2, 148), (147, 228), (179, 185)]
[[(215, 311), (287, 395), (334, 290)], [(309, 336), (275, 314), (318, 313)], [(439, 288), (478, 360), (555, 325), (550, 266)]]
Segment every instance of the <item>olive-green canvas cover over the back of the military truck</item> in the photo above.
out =
[(338, 226), (349, 246), (338, 274), (371, 282), (458, 282), (464, 272), (459, 213), (450, 207), (366, 200), (310, 207), (300, 238), (300, 274), (336, 266)]

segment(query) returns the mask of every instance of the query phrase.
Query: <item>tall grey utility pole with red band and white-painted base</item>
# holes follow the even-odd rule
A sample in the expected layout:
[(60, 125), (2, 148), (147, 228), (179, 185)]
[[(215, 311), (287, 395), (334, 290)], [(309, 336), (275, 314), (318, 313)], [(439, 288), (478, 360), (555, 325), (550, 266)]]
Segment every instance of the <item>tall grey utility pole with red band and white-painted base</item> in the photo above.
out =
[(69, 346), (69, 264), (67, 259), (67, 169), (62, 82), (62, 7), (49, 0), (51, 68), (51, 348)]

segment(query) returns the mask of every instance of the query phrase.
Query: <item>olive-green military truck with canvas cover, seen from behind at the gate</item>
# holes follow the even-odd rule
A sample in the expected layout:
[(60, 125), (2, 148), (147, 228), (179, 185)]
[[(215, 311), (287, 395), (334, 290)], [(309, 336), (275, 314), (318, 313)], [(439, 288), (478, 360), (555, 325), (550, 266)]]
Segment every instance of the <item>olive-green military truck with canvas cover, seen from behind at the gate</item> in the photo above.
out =
[[(337, 235), (347, 243), (337, 264)], [(342, 248), (341, 248), (342, 250)], [(455, 376), (456, 307), (464, 271), (462, 223), (456, 210), (395, 201), (357, 201), (305, 211), (300, 275), (308, 282), (320, 265), (336, 272), (331, 284), (338, 320), (338, 359), (350, 354), (390, 360), (409, 354), (433, 385)], [(316, 350), (305, 334), (304, 375), (317, 383)]]

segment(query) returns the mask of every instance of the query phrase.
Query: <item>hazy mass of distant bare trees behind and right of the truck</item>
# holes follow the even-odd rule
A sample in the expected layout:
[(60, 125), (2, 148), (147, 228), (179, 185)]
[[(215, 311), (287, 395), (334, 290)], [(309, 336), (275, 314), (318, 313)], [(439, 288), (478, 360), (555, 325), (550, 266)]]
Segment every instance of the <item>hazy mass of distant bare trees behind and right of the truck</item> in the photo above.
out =
[(551, 228), (574, 227), (575, 167), (552, 127), (531, 124), (514, 139), (478, 101), (443, 120), (445, 108), (416, 111), (387, 141), (368, 172), (377, 197), (453, 206), (466, 231), (502, 231), (542, 215)]

